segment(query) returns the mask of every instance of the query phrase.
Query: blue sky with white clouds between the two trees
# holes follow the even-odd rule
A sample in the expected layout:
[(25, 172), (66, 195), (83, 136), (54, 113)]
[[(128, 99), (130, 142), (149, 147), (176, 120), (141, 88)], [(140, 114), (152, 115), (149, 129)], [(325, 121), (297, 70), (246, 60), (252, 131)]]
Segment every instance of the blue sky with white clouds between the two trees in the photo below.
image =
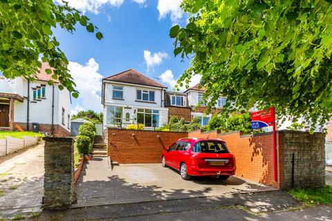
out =
[[(59, 1), (59, 0), (56, 0)], [(73, 34), (54, 31), (60, 47), (71, 61), (79, 99), (73, 99), (73, 113), (101, 111), (101, 78), (133, 68), (148, 77), (161, 77), (172, 85), (188, 68), (188, 59), (174, 58), (174, 41), (169, 28), (185, 25), (187, 17), (179, 7), (181, 0), (72, 0), (71, 6), (85, 13), (100, 28), (104, 38), (77, 26)], [(193, 79), (192, 84), (198, 79)]]

